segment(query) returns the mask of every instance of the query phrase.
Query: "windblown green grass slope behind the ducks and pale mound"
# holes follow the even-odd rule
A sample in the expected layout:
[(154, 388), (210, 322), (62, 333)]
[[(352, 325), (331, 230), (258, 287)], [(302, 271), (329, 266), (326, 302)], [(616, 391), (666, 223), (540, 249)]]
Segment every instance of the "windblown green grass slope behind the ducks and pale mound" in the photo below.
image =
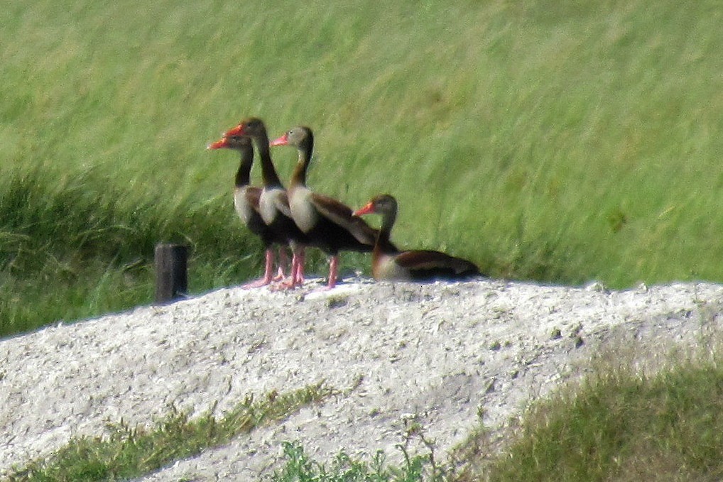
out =
[[(315, 189), (395, 194), (398, 244), (495, 276), (723, 280), (721, 17), (711, 0), (13, 2), (0, 332), (150, 301), (161, 240), (194, 246), (194, 291), (258, 272), (235, 156), (203, 149), (248, 114), (315, 128)], [(275, 159), (288, 177), (294, 153)]]

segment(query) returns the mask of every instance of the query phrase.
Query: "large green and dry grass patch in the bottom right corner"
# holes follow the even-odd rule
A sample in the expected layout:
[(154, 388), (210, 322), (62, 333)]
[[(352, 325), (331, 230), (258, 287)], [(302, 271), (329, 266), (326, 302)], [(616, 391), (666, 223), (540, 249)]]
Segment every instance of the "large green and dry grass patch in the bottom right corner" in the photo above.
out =
[[(500, 444), (477, 429), (453, 457), (468, 481), (714, 481), (723, 477), (723, 367), (636, 348), (594, 359), (580, 382), (538, 402)], [(638, 353), (639, 354), (639, 353)], [(649, 365), (643, 361), (642, 366)]]

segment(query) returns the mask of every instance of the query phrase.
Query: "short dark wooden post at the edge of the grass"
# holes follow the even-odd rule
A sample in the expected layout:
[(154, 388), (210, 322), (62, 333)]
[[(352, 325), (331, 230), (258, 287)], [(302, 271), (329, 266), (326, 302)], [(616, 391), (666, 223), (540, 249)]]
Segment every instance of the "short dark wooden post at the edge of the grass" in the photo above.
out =
[(182, 244), (155, 246), (155, 302), (168, 303), (187, 291), (188, 247)]

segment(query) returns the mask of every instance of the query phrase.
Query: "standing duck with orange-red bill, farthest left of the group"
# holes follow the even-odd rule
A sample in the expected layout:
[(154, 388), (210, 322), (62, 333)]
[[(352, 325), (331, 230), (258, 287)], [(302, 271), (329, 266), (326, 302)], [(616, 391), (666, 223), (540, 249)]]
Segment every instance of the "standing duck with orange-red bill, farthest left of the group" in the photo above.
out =
[(260, 280), (247, 283), (244, 288), (255, 288), (271, 283), (273, 278), (274, 252), (273, 244), (278, 244), (279, 257), (281, 264), (278, 268), (277, 279), (283, 279), (283, 264), (286, 264), (286, 239), (276, 236), (271, 231), (264, 220), (261, 218), (259, 210), (259, 199), (261, 197), (261, 188), (249, 186), (251, 177), (251, 165), (254, 161), (254, 147), (249, 137), (222, 137), (216, 142), (208, 145), (208, 149), (231, 149), (241, 152), (241, 161), (239, 162), (239, 170), (236, 171), (236, 179), (234, 183), (234, 207), (239, 218), (247, 225), (247, 228), (255, 235), (261, 238), (266, 251), (266, 262), (264, 275)]

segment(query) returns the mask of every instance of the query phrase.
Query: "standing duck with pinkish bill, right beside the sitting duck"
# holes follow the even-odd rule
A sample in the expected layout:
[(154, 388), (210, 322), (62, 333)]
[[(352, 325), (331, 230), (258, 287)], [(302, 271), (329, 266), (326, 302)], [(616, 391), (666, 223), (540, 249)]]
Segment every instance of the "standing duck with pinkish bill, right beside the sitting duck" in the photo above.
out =
[(333, 288), (338, 276), (339, 251), (372, 251), (377, 230), (354, 216), (351, 207), (307, 188), (307, 169), (314, 150), (311, 129), (294, 127), (271, 145), (290, 145), (299, 150), (299, 161), (287, 189), (291, 217), (309, 237), (309, 246), (317, 246), (330, 255), (328, 288)]

